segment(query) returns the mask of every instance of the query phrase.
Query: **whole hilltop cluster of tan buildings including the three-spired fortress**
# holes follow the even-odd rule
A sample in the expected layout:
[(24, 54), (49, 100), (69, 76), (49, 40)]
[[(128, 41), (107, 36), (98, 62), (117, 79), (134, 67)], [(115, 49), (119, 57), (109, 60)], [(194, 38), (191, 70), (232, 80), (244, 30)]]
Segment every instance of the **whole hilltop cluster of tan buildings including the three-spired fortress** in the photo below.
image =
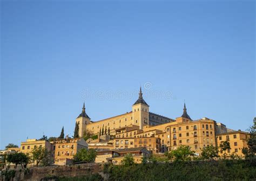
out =
[[(140, 163), (145, 155), (175, 150), (180, 145), (188, 145), (195, 155), (200, 156), (204, 147), (219, 146), (223, 141), (230, 142), (231, 147), (225, 155), (243, 156), (242, 148), (247, 147), (249, 136), (244, 131), (228, 129), (206, 117), (192, 120), (185, 103), (183, 114), (175, 120), (151, 113), (140, 88), (139, 98), (130, 112), (91, 121), (84, 105), (76, 119), (74, 138), (63, 136), (53, 141), (28, 139), (21, 143), (21, 148), (11, 151), (29, 153), (33, 148), (44, 147), (51, 152), (54, 164), (65, 165), (72, 162), (80, 149), (86, 148), (97, 150), (97, 163), (120, 164), (128, 153), (133, 155), (136, 163)], [(223, 154), (220, 150), (219, 155)]]

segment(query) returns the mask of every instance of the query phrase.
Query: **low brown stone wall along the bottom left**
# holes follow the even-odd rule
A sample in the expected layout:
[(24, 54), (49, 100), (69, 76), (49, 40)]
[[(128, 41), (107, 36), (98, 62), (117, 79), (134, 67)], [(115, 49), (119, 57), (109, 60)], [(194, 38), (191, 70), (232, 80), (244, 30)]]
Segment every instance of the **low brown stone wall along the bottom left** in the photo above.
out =
[[(102, 165), (97, 163), (86, 163), (76, 165), (65, 165), (65, 166), (44, 166), (38, 168), (31, 168), (29, 172), (25, 174), (24, 170), (16, 171), (14, 181), (16, 180), (41, 180), (45, 177), (52, 176), (64, 176), (64, 177), (76, 177), (85, 176), (92, 173), (98, 173), (103, 170)], [(0, 177), (0, 180), (4, 178)]]

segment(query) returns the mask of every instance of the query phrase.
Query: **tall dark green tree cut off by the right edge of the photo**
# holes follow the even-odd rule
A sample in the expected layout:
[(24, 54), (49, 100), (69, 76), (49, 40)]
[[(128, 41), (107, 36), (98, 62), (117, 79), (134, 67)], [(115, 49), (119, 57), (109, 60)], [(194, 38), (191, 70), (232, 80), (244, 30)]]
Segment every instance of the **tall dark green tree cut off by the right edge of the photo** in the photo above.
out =
[(248, 147), (242, 148), (242, 154), (245, 155), (245, 159), (252, 159), (256, 155), (256, 131), (255, 131), (255, 129), (256, 129), (255, 125), (250, 127), (250, 129), (249, 129), (250, 136), (247, 139)]

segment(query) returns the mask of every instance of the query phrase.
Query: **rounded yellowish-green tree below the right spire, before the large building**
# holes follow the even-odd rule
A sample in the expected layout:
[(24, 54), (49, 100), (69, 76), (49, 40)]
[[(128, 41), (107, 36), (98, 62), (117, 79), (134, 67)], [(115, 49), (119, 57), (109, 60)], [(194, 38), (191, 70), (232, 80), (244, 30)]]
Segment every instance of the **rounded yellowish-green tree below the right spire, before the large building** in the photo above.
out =
[(176, 150), (170, 151), (167, 155), (173, 161), (190, 161), (191, 156), (194, 156), (194, 151), (191, 151), (190, 146), (181, 145)]

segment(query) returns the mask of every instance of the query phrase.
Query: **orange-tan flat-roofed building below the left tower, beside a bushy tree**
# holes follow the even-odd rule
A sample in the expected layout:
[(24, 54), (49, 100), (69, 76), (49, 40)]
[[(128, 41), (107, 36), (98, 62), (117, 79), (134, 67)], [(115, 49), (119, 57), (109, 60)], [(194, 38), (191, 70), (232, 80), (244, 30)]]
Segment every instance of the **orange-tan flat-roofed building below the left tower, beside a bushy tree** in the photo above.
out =
[(79, 149), (88, 149), (88, 144), (84, 138), (57, 139), (53, 141), (52, 156), (57, 165), (66, 165), (72, 163), (72, 158)]

